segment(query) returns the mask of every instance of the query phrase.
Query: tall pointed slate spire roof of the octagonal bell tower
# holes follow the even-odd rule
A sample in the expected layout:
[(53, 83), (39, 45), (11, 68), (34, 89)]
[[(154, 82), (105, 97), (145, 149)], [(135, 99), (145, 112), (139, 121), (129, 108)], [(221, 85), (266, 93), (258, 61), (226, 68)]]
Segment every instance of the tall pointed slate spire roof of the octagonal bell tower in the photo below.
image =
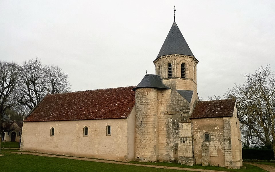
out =
[(176, 24), (175, 18), (174, 23), (172, 24), (172, 27), (160, 49), (160, 52), (158, 53), (158, 56), (154, 61), (156, 61), (160, 56), (170, 54), (194, 56), (180, 32), (180, 29)]

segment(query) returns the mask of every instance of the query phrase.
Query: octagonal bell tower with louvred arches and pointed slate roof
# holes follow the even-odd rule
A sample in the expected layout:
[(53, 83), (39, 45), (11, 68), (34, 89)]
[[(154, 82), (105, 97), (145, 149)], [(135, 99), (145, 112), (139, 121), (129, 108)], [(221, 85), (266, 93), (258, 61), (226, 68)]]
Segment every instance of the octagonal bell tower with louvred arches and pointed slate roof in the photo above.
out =
[(172, 27), (154, 60), (156, 75), (170, 88), (197, 93), (197, 58), (193, 55), (174, 16)]

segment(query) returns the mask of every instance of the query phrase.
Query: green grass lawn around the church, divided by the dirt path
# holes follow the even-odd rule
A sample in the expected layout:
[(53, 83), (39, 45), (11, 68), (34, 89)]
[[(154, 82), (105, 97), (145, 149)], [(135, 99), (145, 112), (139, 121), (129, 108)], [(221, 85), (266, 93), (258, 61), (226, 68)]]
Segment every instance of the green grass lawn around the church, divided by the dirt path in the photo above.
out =
[[(55, 158), (55, 157), (42, 157), (36, 155), (24, 155), (24, 154), (15, 154), (18, 150), (7, 150), (2, 149), (1, 154), (4, 156), (0, 156), (1, 163), (1, 171), (14, 171), (14, 172), (22, 172), (22, 171), (119, 171), (119, 172), (140, 172), (140, 171), (159, 171), (159, 172), (172, 172), (178, 171), (173, 169), (158, 169), (152, 167), (140, 167), (140, 166), (132, 166), (132, 165), (120, 165), (120, 164), (110, 164), (110, 163), (98, 163), (92, 161), (81, 161), (81, 160), (73, 160), (73, 159), (64, 159), (64, 158)], [(173, 167), (190, 167), (183, 166), (174, 163), (145, 163), (147, 165), (164, 165), (164, 166), (173, 166)], [(253, 165), (245, 164), (247, 169), (241, 170), (228, 170), (222, 167), (202, 167), (195, 166), (200, 169), (215, 169), (221, 171), (239, 171), (239, 172), (263, 172), (264, 170), (255, 167)]]

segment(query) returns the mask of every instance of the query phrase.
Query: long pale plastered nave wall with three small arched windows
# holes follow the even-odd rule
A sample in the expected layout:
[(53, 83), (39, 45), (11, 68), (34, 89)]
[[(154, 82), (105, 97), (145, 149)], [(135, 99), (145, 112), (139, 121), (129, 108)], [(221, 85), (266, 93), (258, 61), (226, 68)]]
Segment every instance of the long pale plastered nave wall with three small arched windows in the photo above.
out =
[[(132, 161), (134, 159), (134, 109), (127, 119), (72, 120), (23, 122), (21, 150)], [(111, 126), (111, 136), (106, 134), (106, 126)], [(54, 128), (54, 136), (50, 129)], [(83, 128), (88, 127), (88, 136), (83, 136)]]

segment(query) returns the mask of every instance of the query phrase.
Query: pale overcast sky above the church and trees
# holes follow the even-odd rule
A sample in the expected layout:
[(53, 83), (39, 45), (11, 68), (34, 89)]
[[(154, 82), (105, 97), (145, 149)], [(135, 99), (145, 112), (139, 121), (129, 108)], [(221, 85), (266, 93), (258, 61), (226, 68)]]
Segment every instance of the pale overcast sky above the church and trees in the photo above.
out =
[(275, 1), (0, 0), (0, 60), (38, 57), (72, 91), (137, 85), (176, 23), (197, 65), (198, 93), (223, 96), (241, 74), (275, 70)]

